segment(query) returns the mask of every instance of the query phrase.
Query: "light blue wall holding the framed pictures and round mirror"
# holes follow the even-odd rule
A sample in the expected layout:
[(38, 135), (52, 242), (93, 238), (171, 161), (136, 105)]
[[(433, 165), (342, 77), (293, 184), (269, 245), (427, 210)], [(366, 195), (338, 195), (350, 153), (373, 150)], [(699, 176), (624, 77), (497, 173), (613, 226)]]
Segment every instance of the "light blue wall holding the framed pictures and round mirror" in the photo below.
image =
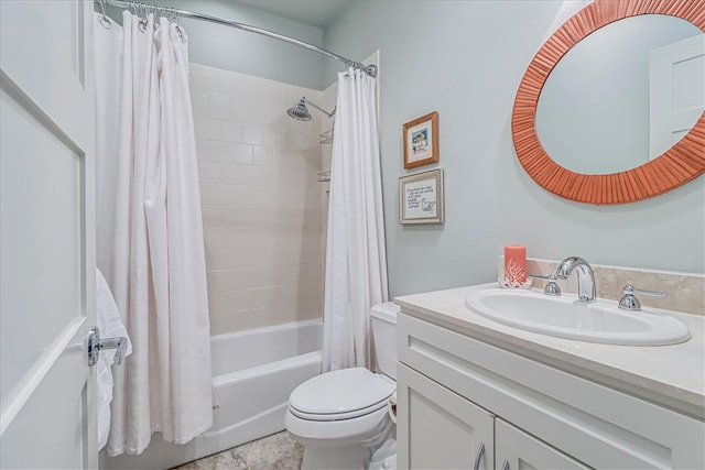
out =
[[(529, 256), (705, 272), (705, 181), (596, 207), (542, 189), (511, 140), (517, 87), (558, 1), (354, 2), (324, 34), (354, 59), (380, 50), (381, 152), (391, 295), (489, 282), (502, 247)], [(325, 63), (324, 83), (337, 64)], [(398, 223), (402, 125), (440, 113), (445, 225)], [(425, 166), (423, 170), (431, 170)]]

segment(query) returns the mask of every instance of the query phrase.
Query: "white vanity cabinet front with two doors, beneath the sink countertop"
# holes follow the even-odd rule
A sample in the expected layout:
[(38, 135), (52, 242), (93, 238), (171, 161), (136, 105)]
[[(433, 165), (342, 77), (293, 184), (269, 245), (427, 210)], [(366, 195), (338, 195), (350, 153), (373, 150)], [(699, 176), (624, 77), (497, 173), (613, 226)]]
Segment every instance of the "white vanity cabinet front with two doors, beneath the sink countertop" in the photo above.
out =
[[(703, 469), (703, 420), (401, 303), (400, 469)], [(514, 350), (514, 352), (512, 352)]]

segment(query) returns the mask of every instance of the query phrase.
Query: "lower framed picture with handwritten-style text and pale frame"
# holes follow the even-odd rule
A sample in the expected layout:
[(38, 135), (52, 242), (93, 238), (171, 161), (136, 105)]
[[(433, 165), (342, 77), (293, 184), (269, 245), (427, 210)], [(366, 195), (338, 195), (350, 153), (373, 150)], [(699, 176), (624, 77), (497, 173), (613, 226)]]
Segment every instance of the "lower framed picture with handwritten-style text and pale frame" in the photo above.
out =
[(399, 223), (443, 223), (443, 170), (399, 178)]

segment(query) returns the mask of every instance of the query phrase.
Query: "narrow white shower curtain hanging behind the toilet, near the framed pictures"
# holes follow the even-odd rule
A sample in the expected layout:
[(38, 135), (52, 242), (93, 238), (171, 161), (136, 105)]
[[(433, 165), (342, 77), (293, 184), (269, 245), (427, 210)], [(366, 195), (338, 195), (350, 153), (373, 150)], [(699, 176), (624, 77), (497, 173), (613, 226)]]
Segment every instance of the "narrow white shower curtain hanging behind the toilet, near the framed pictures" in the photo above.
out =
[(323, 370), (372, 367), (370, 307), (388, 298), (375, 78), (338, 75), (330, 166)]

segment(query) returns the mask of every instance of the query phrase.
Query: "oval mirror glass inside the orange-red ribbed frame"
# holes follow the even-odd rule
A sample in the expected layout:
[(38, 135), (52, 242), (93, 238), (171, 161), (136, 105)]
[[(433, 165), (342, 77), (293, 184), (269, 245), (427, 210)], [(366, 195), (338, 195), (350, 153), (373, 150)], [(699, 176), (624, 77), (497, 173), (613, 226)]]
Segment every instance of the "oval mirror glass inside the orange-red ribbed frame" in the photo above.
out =
[[(705, 107), (705, 34), (642, 14), (607, 24), (556, 64), (535, 128), (547, 155), (576, 173), (623, 172), (683, 138)], [(680, 58), (679, 58), (680, 57)]]

